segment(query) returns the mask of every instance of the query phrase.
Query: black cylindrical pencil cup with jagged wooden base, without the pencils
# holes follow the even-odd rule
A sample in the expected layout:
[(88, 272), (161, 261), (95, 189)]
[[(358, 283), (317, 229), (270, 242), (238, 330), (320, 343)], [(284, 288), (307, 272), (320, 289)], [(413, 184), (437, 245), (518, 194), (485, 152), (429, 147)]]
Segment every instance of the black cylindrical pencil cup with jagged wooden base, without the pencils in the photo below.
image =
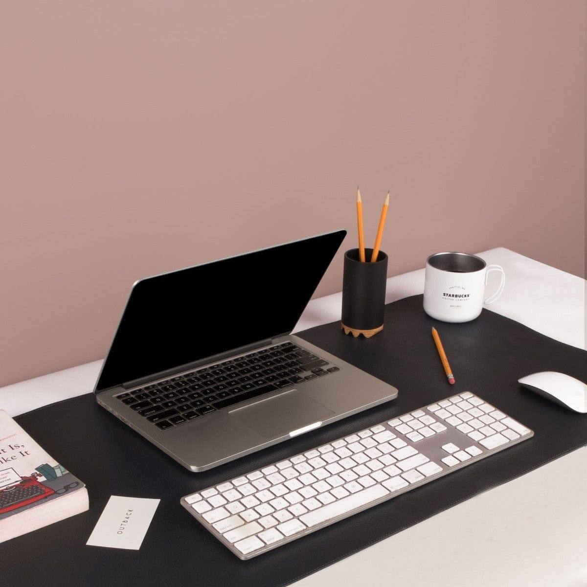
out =
[(365, 262), (359, 261), (359, 249), (345, 253), (342, 278), (342, 324), (345, 334), (371, 338), (383, 330), (387, 255), (379, 251), (371, 263), (373, 249), (365, 249)]

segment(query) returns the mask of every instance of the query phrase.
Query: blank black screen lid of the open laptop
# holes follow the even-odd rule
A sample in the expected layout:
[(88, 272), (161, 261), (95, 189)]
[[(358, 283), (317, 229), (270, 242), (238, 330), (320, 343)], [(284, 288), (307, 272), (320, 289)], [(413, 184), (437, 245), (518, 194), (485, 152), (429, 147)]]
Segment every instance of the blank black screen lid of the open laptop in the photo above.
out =
[(346, 231), (137, 282), (96, 392), (291, 330)]

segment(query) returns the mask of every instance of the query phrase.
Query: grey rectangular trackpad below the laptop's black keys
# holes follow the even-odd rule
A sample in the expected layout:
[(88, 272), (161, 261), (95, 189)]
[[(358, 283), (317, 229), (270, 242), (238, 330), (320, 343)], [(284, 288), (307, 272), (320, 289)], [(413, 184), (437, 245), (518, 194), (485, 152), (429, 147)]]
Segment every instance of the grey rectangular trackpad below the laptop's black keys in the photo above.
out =
[(281, 396), (233, 410), (230, 415), (266, 438), (276, 438), (322, 422), (333, 413), (306, 394), (292, 389)]

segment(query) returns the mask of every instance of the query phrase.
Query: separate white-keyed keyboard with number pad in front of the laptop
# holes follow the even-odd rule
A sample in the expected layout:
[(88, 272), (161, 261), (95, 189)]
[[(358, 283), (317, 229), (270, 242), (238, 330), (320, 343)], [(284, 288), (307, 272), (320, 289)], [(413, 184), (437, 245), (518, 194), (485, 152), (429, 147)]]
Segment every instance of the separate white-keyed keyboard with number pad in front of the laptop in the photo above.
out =
[(533, 435), (465, 392), (186, 495), (181, 505), (245, 560)]

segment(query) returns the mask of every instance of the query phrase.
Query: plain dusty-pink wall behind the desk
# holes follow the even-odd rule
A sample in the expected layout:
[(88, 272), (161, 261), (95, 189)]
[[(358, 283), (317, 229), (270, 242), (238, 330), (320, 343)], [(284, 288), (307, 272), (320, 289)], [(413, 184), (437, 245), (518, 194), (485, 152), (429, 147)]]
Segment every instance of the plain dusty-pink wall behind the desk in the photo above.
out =
[(357, 183), (369, 243), (392, 192), (390, 275), (500, 245), (582, 275), (583, 11), (5, 4), (0, 384), (104, 356), (141, 276), (339, 227), (354, 246)]

